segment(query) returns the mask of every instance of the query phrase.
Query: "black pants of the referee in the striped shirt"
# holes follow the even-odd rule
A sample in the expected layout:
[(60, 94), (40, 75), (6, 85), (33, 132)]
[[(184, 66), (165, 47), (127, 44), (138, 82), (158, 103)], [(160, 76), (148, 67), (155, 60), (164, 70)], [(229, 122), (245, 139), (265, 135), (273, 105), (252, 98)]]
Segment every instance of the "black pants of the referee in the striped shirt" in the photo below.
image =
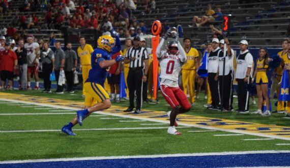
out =
[(129, 88), (129, 108), (134, 108), (134, 98), (136, 91), (136, 109), (141, 109), (141, 93), (142, 93), (142, 76), (143, 71), (141, 68), (130, 69), (127, 77), (127, 83)]

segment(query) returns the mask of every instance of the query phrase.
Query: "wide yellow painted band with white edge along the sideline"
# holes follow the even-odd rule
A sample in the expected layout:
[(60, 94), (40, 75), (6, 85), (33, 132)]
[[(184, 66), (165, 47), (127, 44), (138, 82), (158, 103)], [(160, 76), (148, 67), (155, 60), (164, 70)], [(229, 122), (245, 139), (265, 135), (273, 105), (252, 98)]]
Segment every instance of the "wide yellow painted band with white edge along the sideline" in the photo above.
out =
[[(79, 110), (83, 107), (82, 102), (75, 102), (61, 99), (43, 98), (37, 96), (18, 95), (11, 93), (0, 93), (0, 100), (19, 102), (24, 104), (35, 104), (40, 106), (55, 107), (70, 110)], [(124, 117), (137, 120), (146, 120), (158, 123), (169, 123), (167, 114), (164, 111), (142, 110), (141, 114), (124, 113), (125, 107), (112, 106), (108, 110), (96, 111), (96, 114)], [(178, 123), (182, 126), (190, 126), (202, 129), (242, 133), (255, 136), (290, 140), (290, 127), (273, 126), (242, 122), (235, 120), (217, 119), (192, 115), (179, 115)]]

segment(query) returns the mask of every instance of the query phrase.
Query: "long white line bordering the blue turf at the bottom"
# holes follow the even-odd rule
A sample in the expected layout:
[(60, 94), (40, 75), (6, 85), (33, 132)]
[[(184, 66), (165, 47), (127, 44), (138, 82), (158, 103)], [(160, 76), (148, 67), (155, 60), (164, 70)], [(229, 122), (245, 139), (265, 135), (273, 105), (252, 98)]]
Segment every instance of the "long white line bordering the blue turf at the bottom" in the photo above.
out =
[(163, 158), (163, 157), (187, 157), (187, 156), (220, 156), (220, 155), (271, 154), (271, 153), (290, 153), (290, 151), (244, 151), (244, 152), (184, 153), (184, 154), (135, 155), (135, 156), (74, 157), (74, 158), (55, 158), (55, 159), (8, 160), (8, 161), (0, 161), (0, 164), (36, 163), (36, 162), (51, 162), (51, 161), (131, 159), (131, 158)]

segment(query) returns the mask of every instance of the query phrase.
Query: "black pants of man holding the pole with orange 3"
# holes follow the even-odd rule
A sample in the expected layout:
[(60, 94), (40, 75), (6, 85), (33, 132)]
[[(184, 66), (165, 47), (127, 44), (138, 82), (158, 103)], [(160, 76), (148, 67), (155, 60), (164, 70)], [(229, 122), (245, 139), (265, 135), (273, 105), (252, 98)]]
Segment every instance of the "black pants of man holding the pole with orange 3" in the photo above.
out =
[(220, 98), (222, 98), (223, 109), (233, 109), (233, 73), (230, 71), (228, 75), (223, 76), (223, 86), (222, 86), (222, 76), (218, 76), (219, 81), (219, 92)]

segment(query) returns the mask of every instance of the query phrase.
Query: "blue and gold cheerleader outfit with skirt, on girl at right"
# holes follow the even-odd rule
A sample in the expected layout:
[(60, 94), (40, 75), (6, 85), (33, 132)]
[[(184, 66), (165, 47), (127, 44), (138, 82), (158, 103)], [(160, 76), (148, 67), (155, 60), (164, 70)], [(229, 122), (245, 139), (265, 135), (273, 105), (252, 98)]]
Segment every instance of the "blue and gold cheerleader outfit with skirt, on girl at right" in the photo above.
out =
[(268, 84), (268, 82), (269, 82), (268, 76), (266, 74), (266, 70), (268, 69), (269, 65), (266, 64), (264, 60), (265, 60), (265, 58), (263, 58), (262, 60), (260, 60), (260, 58), (258, 58), (256, 61), (257, 70), (265, 69), (265, 71), (257, 71), (256, 85)]

